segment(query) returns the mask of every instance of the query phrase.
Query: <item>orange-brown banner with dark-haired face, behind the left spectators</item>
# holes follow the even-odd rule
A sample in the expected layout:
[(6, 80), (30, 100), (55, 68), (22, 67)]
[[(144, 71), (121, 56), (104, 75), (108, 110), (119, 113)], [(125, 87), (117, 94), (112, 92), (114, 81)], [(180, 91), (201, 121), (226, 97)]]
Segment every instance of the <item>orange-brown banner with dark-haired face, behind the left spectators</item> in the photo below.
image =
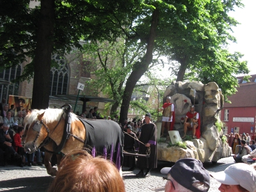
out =
[(11, 105), (14, 105), (15, 114), (17, 114), (18, 111), (22, 111), (23, 109), (30, 109), (31, 103), (32, 98), (9, 95), (9, 109), (11, 108)]

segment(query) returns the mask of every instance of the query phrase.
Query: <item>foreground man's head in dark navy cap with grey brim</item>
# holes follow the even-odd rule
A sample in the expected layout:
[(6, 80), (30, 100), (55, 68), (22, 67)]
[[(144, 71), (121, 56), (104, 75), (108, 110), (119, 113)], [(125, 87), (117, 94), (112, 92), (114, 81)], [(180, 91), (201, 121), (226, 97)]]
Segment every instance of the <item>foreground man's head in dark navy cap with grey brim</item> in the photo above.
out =
[(165, 192), (207, 192), (210, 188), (210, 175), (200, 160), (185, 158), (177, 160), (174, 166), (161, 169), (167, 180)]

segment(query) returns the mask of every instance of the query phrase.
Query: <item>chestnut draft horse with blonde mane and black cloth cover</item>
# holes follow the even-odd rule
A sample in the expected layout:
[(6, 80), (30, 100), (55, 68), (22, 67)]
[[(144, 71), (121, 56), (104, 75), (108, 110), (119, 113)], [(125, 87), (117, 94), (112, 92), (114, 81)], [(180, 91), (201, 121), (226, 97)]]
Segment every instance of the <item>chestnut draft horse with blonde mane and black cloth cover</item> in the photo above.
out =
[[(120, 125), (109, 120), (79, 118), (67, 111), (48, 108), (28, 113), (24, 119), (27, 129), (25, 150), (35, 152), (51, 139), (52, 143), (44, 146), (49, 151), (67, 154), (75, 149), (87, 148), (93, 156), (108, 157), (121, 171), (124, 135)], [(51, 168), (48, 166), (48, 169)]]

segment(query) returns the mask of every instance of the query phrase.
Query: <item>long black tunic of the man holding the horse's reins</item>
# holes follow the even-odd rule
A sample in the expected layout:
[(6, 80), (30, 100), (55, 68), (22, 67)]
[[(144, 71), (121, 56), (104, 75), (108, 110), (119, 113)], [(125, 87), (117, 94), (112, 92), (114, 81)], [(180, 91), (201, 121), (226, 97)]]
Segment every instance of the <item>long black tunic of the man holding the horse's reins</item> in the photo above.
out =
[[(138, 157), (137, 166), (140, 169), (144, 168), (157, 168), (157, 127), (154, 123), (144, 124), (141, 129), (140, 142), (146, 144), (150, 143), (150, 157), (148, 159), (148, 165), (146, 163), (146, 157)], [(148, 147), (140, 144), (139, 154), (146, 154)]]

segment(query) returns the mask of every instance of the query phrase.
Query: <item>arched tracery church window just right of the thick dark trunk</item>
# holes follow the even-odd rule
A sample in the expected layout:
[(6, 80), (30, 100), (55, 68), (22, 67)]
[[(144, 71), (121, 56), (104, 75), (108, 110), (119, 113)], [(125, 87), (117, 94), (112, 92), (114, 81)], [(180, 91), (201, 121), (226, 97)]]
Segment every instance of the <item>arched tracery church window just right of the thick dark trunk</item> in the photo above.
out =
[(58, 64), (58, 68), (52, 67), (50, 74), (50, 96), (67, 94), (68, 67), (64, 57), (53, 55), (52, 60)]

